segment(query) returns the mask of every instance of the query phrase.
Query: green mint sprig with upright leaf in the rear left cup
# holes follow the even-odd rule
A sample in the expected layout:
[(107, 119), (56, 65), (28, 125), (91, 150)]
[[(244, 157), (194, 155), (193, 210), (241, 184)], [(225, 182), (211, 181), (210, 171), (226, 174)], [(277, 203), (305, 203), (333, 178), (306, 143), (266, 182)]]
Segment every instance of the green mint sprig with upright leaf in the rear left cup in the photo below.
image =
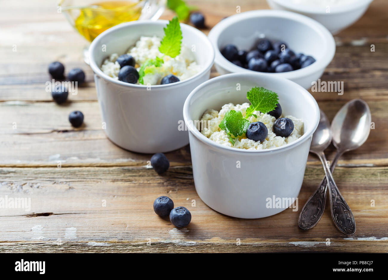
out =
[[(182, 44), (182, 31), (177, 17), (171, 19), (167, 26), (163, 28), (165, 35), (160, 43), (159, 52), (163, 55), (176, 57), (180, 54), (180, 46)], [(162, 66), (163, 58), (156, 57), (155, 59), (147, 59), (139, 69), (139, 83), (144, 85), (144, 76), (156, 71), (157, 67)]]

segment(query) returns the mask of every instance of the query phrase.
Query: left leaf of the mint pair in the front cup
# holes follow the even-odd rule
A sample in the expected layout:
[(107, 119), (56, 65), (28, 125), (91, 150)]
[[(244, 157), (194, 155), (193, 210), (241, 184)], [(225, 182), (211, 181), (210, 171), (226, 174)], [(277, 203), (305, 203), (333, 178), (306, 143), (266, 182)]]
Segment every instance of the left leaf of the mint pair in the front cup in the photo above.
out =
[(218, 125), (227, 133), (230, 142), (234, 145), (233, 138), (243, 135), (249, 125), (249, 121), (244, 119), (240, 111), (229, 110), (226, 112), (223, 120)]

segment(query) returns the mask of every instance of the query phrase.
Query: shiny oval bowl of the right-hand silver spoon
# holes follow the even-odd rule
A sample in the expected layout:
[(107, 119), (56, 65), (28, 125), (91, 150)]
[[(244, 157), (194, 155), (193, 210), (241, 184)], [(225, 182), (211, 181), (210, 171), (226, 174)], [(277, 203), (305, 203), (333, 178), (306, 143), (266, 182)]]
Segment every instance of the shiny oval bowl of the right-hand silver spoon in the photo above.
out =
[(360, 147), (369, 136), (371, 121), (371, 111), (364, 100), (353, 99), (343, 105), (331, 123), (334, 147), (342, 153)]

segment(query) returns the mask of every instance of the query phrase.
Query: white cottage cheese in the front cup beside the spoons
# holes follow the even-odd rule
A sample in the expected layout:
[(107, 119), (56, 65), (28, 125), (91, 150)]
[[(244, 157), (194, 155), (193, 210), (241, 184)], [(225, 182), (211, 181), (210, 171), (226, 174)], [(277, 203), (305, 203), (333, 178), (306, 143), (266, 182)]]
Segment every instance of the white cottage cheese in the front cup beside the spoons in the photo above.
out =
[(249, 107), (248, 103), (243, 104), (237, 104), (234, 105), (232, 103), (225, 104), (222, 106), (222, 109), (220, 112), (208, 109), (204, 112), (202, 118), (201, 118), (201, 124), (203, 121), (203, 128), (201, 133), (209, 138), (210, 140), (227, 146), (227, 147), (234, 147), (237, 149), (247, 149), (247, 150), (263, 150), (263, 149), (272, 149), (275, 147), (280, 147), (287, 145), (291, 142), (294, 142), (298, 138), (300, 138), (303, 135), (303, 120), (297, 119), (293, 116), (285, 116), (285, 118), (289, 118), (294, 123), (294, 130), (292, 131), (291, 135), (288, 137), (280, 137), (276, 136), (276, 134), (272, 131), (272, 127), (275, 123), (275, 117), (269, 115), (269, 114), (263, 114), (259, 111), (253, 112), (257, 116), (251, 116), (248, 118), (248, 120), (253, 123), (255, 121), (261, 121), (262, 123), (267, 126), (268, 129), (268, 136), (265, 138), (263, 142), (256, 142), (254, 140), (246, 138), (245, 135), (241, 139), (236, 139), (234, 146), (229, 141), (229, 138), (224, 130), (221, 130), (219, 128), (219, 124), (222, 121), (223, 117), (225, 116), (225, 113), (229, 110), (235, 110), (240, 111), (242, 116), (245, 117), (245, 111)]

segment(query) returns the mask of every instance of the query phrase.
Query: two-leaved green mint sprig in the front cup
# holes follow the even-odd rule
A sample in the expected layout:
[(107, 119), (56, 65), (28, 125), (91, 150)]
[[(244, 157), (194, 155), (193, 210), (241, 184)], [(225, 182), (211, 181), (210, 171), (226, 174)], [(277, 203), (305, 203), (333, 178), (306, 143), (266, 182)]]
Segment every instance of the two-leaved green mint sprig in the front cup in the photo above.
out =
[(240, 111), (229, 110), (226, 112), (223, 120), (219, 124), (222, 130), (227, 133), (230, 143), (234, 146), (235, 138), (246, 133), (249, 126), (248, 118), (250, 116), (257, 116), (253, 114), (255, 111), (262, 113), (268, 113), (275, 109), (278, 103), (278, 96), (276, 93), (271, 92), (263, 87), (253, 87), (246, 93), (246, 98), (251, 102), (251, 105), (245, 111), (245, 117), (242, 116)]

